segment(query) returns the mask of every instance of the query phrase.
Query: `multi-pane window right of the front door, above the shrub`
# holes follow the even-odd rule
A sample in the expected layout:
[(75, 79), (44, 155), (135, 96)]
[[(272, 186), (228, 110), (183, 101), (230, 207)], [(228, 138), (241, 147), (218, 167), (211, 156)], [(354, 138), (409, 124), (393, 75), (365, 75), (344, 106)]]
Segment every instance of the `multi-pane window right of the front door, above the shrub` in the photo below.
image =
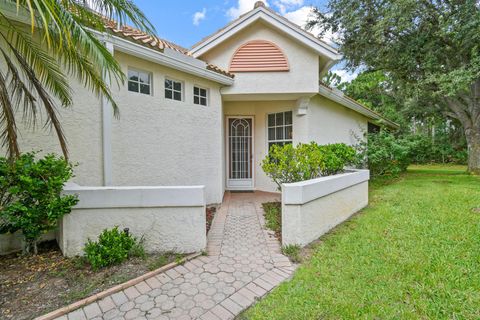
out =
[(292, 143), (292, 111), (271, 113), (268, 115), (268, 150), (276, 144), (283, 146)]

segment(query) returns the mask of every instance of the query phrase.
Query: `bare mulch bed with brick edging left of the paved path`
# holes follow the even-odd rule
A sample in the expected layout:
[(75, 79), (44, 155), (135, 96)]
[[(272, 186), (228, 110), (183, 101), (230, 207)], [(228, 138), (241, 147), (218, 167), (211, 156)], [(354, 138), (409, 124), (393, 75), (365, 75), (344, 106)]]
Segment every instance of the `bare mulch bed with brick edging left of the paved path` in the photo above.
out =
[(0, 319), (33, 319), (173, 262), (163, 253), (93, 271), (82, 258), (65, 258), (55, 241), (36, 256), (0, 256)]

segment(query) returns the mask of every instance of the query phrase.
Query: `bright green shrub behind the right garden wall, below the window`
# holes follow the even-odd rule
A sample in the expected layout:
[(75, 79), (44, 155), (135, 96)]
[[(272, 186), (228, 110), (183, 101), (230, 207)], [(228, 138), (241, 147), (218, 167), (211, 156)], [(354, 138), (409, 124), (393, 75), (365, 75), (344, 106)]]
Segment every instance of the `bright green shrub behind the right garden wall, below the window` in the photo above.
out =
[(273, 145), (262, 169), (277, 185), (333, 175), (356, 160), (355, 149), (343, 143)]

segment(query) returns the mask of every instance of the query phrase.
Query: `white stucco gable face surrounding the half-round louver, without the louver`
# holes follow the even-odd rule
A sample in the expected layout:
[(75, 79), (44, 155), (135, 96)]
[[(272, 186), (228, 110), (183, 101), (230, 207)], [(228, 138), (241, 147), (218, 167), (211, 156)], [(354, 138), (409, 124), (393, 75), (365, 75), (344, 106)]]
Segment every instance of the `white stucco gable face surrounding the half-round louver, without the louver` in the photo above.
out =
[(228, 70), (235, 51), (250, 40), (268, 40), (286, 55), (289, 72), (238, 72), (223, 94), (307, 93), (318, 91), (319, 56), (279, 31), (257, 22), (224, 41), (200, 58)]

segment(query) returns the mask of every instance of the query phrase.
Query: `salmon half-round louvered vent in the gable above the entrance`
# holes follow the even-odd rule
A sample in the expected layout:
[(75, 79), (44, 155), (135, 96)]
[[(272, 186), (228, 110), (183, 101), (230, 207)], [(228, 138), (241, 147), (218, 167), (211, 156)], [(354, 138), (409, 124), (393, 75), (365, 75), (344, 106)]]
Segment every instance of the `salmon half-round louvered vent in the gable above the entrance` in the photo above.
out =
[(230, 62), (231, 72), (288, 71), (283, 51), (266, 40), (252, 40), (235, 51)]

